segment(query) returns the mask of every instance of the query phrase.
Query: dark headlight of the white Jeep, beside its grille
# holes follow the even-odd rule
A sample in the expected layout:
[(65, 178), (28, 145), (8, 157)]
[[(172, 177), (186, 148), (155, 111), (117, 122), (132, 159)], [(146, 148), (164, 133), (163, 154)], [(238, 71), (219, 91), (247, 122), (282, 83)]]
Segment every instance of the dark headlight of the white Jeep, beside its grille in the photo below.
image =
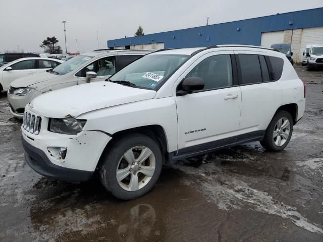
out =
[(86, 119), (76, 119), (74, 117), (50, 118), (49, 131), (66, 135), (77, 135), (83, 130)]

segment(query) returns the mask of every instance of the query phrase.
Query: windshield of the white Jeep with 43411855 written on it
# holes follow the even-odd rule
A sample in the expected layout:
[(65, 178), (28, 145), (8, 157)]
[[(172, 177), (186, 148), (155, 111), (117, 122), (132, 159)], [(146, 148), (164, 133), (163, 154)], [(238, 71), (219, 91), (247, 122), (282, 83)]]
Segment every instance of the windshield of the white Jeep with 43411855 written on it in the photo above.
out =
[(113, 75), (111, 81), (129, 81), (138, 87), (155, 89), (166, 80), (189, 55), (145, 55)]

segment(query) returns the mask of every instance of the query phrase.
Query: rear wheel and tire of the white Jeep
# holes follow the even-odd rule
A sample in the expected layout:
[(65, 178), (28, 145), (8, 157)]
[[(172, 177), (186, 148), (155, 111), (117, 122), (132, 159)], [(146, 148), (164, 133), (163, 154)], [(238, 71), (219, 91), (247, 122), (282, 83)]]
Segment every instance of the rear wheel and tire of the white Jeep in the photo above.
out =
[[(278, 123), (281, 121), (281, 123)], [(286, 122), (288, 121), (288, 122)], [(286, 123), (285, 123), (286, 122)], [(284, 126), (279, 128), (279, 124)], [(277, 136), (274, 137), (274, 131)], [(285, 110), (278, 111), (268, 128), (266, 129), (263, 140), (260, 142), (263, 148), (270, 151), (280, 151), (288, 145), (293, 133), (293, 119), (289, 112)]]

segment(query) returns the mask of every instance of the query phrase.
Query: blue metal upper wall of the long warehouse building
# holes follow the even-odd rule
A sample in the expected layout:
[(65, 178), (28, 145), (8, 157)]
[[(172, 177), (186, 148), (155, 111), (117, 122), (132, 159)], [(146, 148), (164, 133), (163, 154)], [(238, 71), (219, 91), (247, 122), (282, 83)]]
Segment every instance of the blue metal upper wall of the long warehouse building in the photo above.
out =
[[(292, 24), (290, 24), (292, 21)], [(108, 40), (108, 47), (164, 43), (165, 48), (214, 44), (260, 45), (261, 33), (323, 26), (323, 8), (296, 11), (223, 24)]]

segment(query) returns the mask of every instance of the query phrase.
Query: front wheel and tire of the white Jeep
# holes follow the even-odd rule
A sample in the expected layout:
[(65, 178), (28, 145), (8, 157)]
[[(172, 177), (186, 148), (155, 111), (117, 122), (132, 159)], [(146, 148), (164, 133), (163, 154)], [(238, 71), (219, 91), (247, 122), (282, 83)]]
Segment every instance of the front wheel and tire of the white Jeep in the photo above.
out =
[[(143, 157), (140, 158), (140, 155)], [(138, 161), (141, 163), (138, 164)], [(162, 164), (163, 156), (154, 140), (145, 135), (131, 134), (116, 140), (109, 147), (99, 168), (99, 177), (104, 188), (115, 197), (136, 199), (156, 184)]]

